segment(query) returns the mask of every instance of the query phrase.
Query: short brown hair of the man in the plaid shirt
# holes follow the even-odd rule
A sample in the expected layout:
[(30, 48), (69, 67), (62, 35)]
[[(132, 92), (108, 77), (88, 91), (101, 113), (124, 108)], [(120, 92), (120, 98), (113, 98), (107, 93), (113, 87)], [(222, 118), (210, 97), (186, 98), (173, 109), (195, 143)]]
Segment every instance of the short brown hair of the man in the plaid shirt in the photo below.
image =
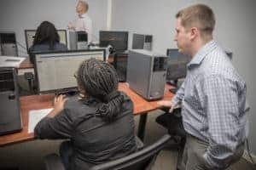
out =
[(212, 8), (204, 4), (195, 4), (177, 12), (176, 18), (186, 29), (193, 26), (199, 28), (206, 35), (212, 34), (215, 26), (215, 16)]

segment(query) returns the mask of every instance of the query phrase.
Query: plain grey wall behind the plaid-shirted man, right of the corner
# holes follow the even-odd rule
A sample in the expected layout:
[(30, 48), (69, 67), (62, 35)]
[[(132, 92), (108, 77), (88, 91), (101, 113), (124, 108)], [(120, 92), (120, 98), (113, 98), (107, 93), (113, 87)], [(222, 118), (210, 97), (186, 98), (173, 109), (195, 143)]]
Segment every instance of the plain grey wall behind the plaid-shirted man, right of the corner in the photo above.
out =
[[(256, 153), (256, 20), (254, 0), (113, 0), (112, 30), (153, 34), (154, 51), (166, 54), (166, 48), (176, 48), (173, 42), (175, 14), (192, 3), (205, 3), (216, 14), (215, 39), (234, 53), (233, 64), (247, 82), (249, 142)], [(130, 40), (131, 40), (131, 34)], [(131, 41), (130, 41), (131, 43)], [(131, 44), (130, 44), (131, 47)]]

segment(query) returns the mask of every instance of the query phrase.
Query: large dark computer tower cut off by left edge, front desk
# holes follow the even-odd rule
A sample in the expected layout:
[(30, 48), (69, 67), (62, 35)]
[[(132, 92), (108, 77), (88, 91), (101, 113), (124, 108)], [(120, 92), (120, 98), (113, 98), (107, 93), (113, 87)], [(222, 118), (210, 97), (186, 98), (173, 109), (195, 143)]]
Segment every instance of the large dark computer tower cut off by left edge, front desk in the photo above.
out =
[(20, 99), (15, 68), (0, 68), (0, 135), (22, 128)]

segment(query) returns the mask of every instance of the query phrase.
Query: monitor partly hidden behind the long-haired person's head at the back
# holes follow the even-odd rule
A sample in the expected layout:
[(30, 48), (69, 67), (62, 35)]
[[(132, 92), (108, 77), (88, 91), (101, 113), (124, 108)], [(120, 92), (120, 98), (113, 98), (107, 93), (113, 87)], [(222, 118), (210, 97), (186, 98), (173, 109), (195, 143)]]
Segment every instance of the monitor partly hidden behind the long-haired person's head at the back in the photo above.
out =
[[(57, 30), (60, 36), (60, 42), (67, 46), (67, 31), (66, 30)], [(25, 30), (25, 38), (26, 38), (26, 50), (32, 46), (33, 40), (36, 34), (36, 30)]]

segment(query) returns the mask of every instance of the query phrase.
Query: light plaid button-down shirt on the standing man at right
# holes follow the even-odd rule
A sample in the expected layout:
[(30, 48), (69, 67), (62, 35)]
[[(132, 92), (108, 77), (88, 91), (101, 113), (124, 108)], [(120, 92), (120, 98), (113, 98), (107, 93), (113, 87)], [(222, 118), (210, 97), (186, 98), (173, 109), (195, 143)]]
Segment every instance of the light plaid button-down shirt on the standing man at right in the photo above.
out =
[(204, 155), (212, 167), (225, 161), (246, 139), (246, 83), (213, 40), (187, 65), (187, 77), (174, 104), (182, 104), (187, 133), (209, 143)]

